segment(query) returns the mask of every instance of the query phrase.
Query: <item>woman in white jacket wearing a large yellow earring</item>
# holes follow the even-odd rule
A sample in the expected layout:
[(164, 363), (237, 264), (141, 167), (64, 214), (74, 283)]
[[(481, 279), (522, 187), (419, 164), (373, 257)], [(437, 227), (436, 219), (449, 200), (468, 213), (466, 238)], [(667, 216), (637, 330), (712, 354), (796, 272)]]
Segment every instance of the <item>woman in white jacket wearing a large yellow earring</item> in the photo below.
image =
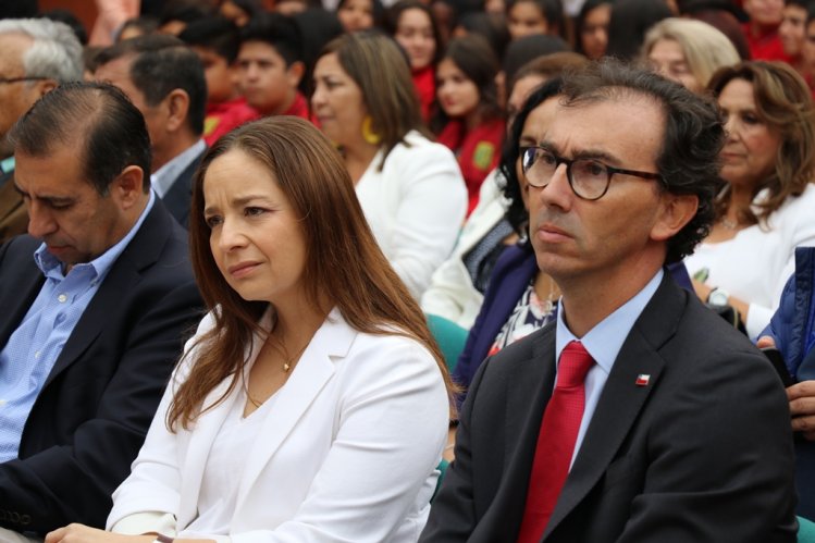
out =
[(450, 150), (428, 138), (405, 54), (372, 32), (331, 41), (314, 66), (311, 109), (382, 251), (419, 299), (456, 243), (467, 189)]

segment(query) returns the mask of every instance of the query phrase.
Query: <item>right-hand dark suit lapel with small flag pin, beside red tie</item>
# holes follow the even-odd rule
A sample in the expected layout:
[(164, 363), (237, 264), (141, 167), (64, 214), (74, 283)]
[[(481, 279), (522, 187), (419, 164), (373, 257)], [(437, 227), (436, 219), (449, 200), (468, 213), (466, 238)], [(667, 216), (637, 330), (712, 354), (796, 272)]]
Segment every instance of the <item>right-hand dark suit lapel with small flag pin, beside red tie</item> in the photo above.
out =
[[(585, 498), (617, 455), (665, 367), (658, 349), (676, 332), (686, 297), (666, 274), (634, 323), (608, 375), (544, 539)], [(649, 375), (647, 384), (637, 384)]]

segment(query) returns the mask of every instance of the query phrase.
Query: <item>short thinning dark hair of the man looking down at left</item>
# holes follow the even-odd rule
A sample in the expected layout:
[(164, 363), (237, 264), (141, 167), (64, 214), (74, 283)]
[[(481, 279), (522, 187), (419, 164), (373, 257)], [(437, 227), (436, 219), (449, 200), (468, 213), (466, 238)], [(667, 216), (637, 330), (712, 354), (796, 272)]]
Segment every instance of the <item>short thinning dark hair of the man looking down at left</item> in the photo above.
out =
[(85, 177), (101, 196), (128, 165), (144, 172), (150, 189), (150, 136), (141, 112), (107, 83), (63, 83), (47, 92), (14, 125), (14, 152), (46, 157), (55, 146), (75, 146), (84, 137)]

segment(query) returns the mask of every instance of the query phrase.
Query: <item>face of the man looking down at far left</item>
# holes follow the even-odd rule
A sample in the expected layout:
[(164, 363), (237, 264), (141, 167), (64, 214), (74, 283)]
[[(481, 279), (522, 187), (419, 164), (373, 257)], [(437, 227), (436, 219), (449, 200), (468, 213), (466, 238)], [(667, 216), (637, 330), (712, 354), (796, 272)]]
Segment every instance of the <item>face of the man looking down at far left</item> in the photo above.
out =
[(57, 145), (47, 157), (17, 152), (14, 184), (28, 210), (28, 233), (71, 267), (90, 262), (132, 225), (116, 181), (100, 196), (85, 177), (78, 145)]

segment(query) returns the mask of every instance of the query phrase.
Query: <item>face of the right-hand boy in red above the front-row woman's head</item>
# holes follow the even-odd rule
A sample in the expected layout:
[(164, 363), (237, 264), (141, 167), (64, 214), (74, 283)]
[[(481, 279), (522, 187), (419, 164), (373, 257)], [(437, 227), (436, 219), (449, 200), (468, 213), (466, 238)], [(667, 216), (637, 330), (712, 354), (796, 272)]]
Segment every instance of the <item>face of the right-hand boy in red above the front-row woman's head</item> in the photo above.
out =
[(299, 84), (299, 77), (285, 59), (264, 41), (240, 46), (237, 74), (246, 102), (264, 115), (285, 111)]

